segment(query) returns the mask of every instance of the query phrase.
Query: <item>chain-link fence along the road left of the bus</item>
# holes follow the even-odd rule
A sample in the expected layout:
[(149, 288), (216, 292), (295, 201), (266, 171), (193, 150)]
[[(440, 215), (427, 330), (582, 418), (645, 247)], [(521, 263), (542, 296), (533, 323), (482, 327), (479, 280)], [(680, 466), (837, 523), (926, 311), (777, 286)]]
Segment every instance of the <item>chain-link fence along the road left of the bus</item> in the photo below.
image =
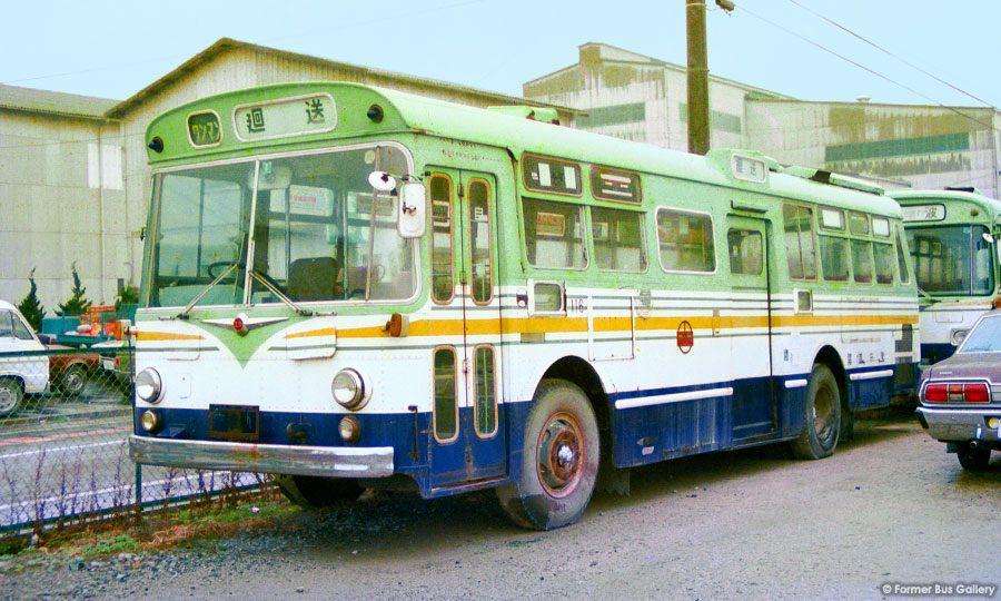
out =
[(0, 353), (0, 535), (262, 482), (132, 463), (135, 349), (99, 346)]

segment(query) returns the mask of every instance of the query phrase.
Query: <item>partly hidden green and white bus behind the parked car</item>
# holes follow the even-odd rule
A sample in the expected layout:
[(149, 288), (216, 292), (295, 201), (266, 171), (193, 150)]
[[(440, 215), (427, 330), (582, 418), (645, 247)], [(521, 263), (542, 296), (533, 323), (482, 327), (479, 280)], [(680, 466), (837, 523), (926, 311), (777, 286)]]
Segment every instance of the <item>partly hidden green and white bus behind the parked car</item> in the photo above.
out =
[(995, 236), (1001, 201), (973, 188), (893, 190), (903, 209), (921, 308), (921, 359), (952, 355), (1001, 296)]

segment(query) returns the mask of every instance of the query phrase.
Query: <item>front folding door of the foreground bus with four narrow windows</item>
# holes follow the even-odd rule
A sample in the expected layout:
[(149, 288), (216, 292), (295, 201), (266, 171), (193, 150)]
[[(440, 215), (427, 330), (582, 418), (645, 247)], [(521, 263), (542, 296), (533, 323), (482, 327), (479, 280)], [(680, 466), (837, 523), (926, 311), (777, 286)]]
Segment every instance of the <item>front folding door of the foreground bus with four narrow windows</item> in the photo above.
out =
[[(507, 472), (500, 400), (496, 180), (432, 169), (432, 297), (447, 344), (434, 351), (432, 486)], [(444, 325), (448, 324), (448, 325)], [(456, 324), (458, 327), (453, 327)]]

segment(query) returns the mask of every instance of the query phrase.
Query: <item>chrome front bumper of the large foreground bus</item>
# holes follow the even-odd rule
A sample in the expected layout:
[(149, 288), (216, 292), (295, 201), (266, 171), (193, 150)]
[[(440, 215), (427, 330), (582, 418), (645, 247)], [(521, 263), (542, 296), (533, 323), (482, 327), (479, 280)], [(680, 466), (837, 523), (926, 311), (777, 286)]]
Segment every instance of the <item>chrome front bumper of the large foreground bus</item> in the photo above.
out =
[(136, 463), (325, 477), (388, 477), (392, 446), (298, 446), (129, 436)]

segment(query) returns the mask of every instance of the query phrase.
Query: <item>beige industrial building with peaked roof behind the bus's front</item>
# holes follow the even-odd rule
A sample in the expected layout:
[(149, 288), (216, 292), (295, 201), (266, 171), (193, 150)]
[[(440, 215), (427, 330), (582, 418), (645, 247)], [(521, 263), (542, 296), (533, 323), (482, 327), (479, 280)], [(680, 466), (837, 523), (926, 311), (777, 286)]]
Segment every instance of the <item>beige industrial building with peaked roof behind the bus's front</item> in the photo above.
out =
[[(49, 311), (70, 296), (71, 266), (95, 303), (138, 284), (150, 173), (146, 127), (158, 114), (229, 90), (355, 81), (488, 107), (525, 99), (222, 38), (123, 101), (0, 87), (0, 298), (18, 303), (36, 268)], [(535, 102), (536, 106), (539, 102)], [(578, 111), (557, 110), (573, 126)]]

